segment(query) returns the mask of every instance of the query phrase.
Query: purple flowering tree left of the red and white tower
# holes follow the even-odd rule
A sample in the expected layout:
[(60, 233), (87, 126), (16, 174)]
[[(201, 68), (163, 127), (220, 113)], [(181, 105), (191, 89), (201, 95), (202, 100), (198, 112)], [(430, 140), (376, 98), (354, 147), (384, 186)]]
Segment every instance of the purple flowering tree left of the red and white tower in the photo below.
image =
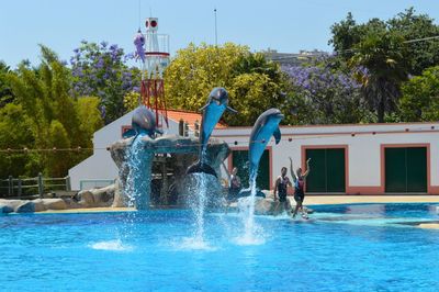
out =
[(101, 114), (105, 124), (125, 113), (123, 99), (138, 90), (139, 71), (125, 65), (125, 56), (117, 45), (81, 42), (70, 58), (72, 94), (93, 96), (101, 99)]

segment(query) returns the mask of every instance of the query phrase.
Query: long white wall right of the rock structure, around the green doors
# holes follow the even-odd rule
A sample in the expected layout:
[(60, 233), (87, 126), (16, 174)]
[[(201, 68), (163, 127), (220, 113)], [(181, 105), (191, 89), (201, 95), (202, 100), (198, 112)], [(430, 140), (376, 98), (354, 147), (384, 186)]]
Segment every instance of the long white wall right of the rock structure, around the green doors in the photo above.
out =
[[(250, 127), (229, 127), (216, 130), (214, 136), (225, 139), (232, 149), (243, 148), (248, 147), (250, 131)], [(282, 141), (278, 145), (274, 145), (273, 139), (268, 144), (272, 147), (271, 184), (280, 176), (281, 168), (289, 167), (290, 156), (295, 169), (305, 165), (304, 149), (338, 146), (347, 148), (346, 193), (380, 194), (384, 193), (383, 145), (427, 146), (428, 193), (439, 194), (438, 123), (297, 126), (281, 127), (281, 133)]]

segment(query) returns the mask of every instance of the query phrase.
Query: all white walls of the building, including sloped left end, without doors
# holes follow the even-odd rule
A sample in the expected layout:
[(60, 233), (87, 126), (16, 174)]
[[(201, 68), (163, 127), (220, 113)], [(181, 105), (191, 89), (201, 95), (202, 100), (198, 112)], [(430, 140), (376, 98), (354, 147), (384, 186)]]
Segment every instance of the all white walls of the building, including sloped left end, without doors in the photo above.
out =
[[(85, 180), (111, 181), (117, 177), (117, 167), (105, 149), (121, 139), (122, 126), (131, 124), (131, 113), (94, 133), (93, 155), (69, 170), (71, 187), (80, 189)], [(178, 122), (170, 120), (168, 134), (177, 134)], [(248, 148), (251, 127), (216, 128), (213, 137), (224, 139), (232, 149)], [(346, 147), (346, 193), (384, 193), (383, 145), (428, 146), (429, 186), (428, 193), (439, 194), (439, 123), (371, 124), (331, 126), (285, 126), (281, 127), (282, 139), (275, 145), (268, 144), (270, 153), (270, 184), (280, 176), (283, 166), (289, 167), (292, 157), (294, 169), (304, 167), (304, 153), (309, 147)], [(291, 141), (290, 141), (291, 139)], [(229, 161), (225, 165), (230, 167)], [(227, 179), (223, 171), (222, 177)]]

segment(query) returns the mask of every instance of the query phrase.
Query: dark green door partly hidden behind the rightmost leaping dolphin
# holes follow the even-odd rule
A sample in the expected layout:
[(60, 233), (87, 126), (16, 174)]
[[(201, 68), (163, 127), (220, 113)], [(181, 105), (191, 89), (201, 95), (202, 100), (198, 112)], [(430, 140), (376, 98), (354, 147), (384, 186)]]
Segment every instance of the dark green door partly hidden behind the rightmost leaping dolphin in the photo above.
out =
[[(248, 150), (232, 151), (233, 167), (238, 168), (238, 177), (243, 187), (247, 188), (249, 177)], [(270, 190), (270, 153), (266, 149), (259, 162), (258, 178), (256, 184), (261, 190)]]

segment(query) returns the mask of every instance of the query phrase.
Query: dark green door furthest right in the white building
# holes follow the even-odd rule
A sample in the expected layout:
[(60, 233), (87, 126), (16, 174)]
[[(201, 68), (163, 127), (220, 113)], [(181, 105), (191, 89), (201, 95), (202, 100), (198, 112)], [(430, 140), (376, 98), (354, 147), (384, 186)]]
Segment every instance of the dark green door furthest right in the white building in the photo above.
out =
[(385, 148), (385, 191), (427, 192), (427, 148)]

